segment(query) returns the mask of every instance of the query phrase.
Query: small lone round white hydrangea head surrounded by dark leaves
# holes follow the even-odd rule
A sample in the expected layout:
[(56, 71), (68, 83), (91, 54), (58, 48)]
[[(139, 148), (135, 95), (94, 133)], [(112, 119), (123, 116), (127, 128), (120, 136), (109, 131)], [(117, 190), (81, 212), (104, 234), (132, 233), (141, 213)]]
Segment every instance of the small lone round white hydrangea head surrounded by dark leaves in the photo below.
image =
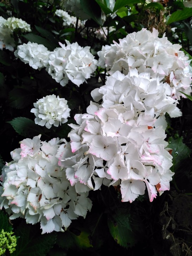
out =
[(66, 123), (70, 116), (70, 108), (64, 98), (56, 95), (47, 95), (33, 103), (34, 108), (31, 112), (35, 114), (35, 123), (40, 126), (46, 126), (48, 129), (52, 125), (58, 127), (59, 124)]

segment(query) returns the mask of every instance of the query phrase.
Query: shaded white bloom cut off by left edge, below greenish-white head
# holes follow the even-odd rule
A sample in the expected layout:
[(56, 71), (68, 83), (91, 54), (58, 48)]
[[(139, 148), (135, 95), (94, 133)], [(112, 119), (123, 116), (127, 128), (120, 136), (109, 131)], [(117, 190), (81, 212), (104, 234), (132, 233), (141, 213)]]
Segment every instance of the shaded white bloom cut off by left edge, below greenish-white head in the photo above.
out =
[(12, 37), (13, 32), (5, 26), (6, 19), (0, 16), (0, 49), (8, 49), (9, 51), (14, 50), (14, 38)]

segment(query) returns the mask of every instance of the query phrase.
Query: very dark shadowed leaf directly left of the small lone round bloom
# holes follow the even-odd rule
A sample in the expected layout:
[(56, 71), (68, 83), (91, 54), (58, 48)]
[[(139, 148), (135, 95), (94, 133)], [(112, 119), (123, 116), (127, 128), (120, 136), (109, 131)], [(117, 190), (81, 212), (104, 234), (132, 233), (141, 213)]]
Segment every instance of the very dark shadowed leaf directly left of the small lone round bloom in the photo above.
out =
[(9, 92), (9, 106), (16, 109), (22, 109), (33, 102), (36, 98), (35, 94), (29, 93), (24, 89), (14, 88)]

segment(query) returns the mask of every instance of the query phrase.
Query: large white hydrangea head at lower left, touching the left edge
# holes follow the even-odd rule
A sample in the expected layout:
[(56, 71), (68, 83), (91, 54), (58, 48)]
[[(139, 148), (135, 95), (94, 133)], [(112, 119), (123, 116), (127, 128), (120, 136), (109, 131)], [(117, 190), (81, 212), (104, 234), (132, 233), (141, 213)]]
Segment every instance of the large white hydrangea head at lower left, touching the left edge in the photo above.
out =
[(56, 158), (59, 146), (67, 143), (54, 138), (40, 141), (40, 135), (24, 139), (11, 152), (0, 176), (0, 209), (10, 219), (25, 218), (26, 223), (40, 222), (43, 233), (65, 231), (71, 220), (85, 218), (92, 202), (88, 192), (76, 192), (66, 179)]

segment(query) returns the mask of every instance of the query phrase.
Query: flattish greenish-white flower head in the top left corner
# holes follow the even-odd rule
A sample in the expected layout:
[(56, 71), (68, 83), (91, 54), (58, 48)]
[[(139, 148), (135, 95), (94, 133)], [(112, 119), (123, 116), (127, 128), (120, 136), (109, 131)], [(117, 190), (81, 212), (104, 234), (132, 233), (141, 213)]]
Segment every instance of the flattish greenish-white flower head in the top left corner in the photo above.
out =
[(4, 26), (9, 28), (11, 31), (20, 28), (21, 32), (31, 32), (31, 27), (26, 23), (26, 21), (15, 17), (8, 18)]

